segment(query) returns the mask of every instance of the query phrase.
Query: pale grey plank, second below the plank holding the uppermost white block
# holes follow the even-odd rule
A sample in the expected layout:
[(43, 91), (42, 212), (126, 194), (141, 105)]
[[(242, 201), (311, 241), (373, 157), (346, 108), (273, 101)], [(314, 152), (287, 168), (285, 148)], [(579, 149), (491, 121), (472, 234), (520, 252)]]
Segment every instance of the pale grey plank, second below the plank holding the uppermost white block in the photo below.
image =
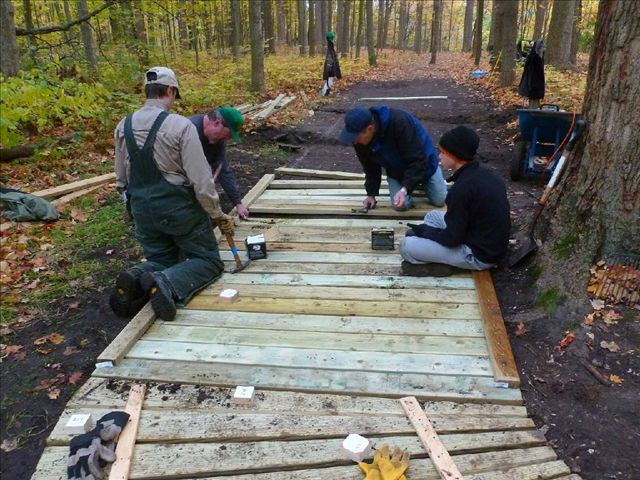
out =
[[(158, 325), (164, 325), (157, 320)], [(293, 315), (279, 313), (216, 312), (178, 310), (170, 325), (253, 328), (259, 330), (300, 330), (309, 332), (428, 335), (480, 337), (484, 327), (479, 319), (354, 317), (337, 315)]]

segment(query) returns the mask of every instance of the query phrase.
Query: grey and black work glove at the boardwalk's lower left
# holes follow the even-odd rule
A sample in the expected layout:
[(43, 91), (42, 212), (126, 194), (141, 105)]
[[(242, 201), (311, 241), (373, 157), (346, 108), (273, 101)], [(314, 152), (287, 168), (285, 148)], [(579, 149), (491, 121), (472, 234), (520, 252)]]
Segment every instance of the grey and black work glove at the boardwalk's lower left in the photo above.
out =
[(115, 461), (115, 442), (129, 421), (126, 412), (104, 415), (93, 430), (71, 439), (67, 460), (69, 480), (102, 480), (105, 463)]

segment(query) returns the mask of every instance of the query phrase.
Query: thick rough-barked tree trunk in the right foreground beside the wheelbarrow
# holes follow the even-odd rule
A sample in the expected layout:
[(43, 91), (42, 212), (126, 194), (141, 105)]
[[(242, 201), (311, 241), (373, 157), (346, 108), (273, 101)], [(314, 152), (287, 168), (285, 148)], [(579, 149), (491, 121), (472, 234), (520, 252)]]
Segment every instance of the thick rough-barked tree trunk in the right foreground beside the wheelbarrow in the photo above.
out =
[(538, 286), (557, 287), (569, 308), (584, 307), (596, 261), (640, 254), (639, 57), (640, 2), (601, 0), (583, 109), (588, 129), (537, 229)]

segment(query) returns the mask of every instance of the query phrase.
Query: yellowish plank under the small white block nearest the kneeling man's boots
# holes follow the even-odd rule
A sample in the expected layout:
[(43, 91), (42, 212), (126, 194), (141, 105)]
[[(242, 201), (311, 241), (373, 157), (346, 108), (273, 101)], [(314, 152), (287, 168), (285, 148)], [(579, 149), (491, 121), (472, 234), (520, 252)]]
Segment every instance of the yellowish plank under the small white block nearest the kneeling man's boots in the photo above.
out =
[(249, 297), (360, 300), (373, 302), (478, 303), (478, 296), (473, 290), (449, 290), (446, 288), (321, 287), (316, 285), (250, 285), (232, 282), (216, 282), (202, 290), (199, 295), (214, 295), (217, 297), (220, 292), (227, 288), (238, 290), (242, 296), (246, 295)]

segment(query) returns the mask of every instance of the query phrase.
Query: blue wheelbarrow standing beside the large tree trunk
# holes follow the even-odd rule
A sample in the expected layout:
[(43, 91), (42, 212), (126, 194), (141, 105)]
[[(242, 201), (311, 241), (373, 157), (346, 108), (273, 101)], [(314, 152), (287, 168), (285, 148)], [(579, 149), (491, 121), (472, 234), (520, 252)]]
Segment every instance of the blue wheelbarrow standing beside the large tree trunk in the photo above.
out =
[[(550, 108), (549, 108), (550, 107)], [(562, 145), (569, 138), (579, 113), (561, 112), (557, 105), (518, 110), (520, 138), (515, 143), (509, 172), (511, 180), (524, 176), (548, 180), (562, 156)]]

